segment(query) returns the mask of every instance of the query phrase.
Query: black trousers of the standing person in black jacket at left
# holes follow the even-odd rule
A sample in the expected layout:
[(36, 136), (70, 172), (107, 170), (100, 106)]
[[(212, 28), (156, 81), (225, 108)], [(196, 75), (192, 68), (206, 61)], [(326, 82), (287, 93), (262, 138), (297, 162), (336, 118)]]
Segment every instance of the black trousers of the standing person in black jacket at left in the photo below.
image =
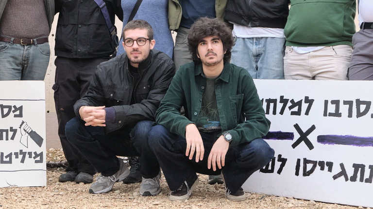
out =
[(95, 168), (88, 160), (68, 142), (65, 135), (65, 125), (70, 119), (76, 117), (73, 106), (88, 90), (96, 66), (107, 60), (109, 58), (69, 59), (57, 57), (54, 62), (56, 75), (52, 89), (54, 90), (58, 119), (58, 135), (68, 160), (66, 171), (85, 172), (92, 175), (96, 173)]

